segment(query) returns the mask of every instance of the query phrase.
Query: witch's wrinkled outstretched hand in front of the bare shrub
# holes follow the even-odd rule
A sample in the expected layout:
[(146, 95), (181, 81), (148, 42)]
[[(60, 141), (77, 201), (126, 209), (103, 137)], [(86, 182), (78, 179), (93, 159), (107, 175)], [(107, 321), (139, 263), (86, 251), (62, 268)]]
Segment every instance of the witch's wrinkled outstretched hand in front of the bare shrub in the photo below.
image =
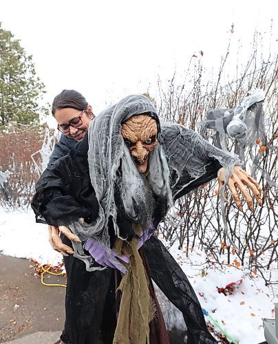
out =
[[(218, 178), (219, 188), (221, 188), (225, 182), (225, 169), (224, 169), (224, 167), (222, 167), (222, 169), (220, 169), (218, 171), (217, 178)], [(253, 192), (253, 194), (255, 195), (255, 199), (257, 200), (257, 202), (261, 206), (261, 204), (262, 204), (261, 187), (241, 167), (239, 167), (239, 166), (234, 167), (233, 173), (232, 173), (231, 177), (228, 179), (227, 185), (231, 191), (233, 200), (235, 201), (237, 208), (239, 208), (239, 211), (242, 211), (242, 200), (239, 197), (238, 189), (241, 191), (243, 197), (245, 198), (249, 210), (253, 211), (253, 209), (254, 209), (252, 196), (250, 195), (246, 186), (248, 186), (250, 191)]]

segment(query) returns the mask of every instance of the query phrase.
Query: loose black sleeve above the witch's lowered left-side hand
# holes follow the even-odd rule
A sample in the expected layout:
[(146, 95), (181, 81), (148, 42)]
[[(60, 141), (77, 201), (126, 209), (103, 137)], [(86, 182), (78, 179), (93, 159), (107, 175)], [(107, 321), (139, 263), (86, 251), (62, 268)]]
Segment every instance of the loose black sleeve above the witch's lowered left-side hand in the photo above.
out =
[(89, 179), (86, 139), (45, 169), (31, 206), (36, 222), (52, 226), (71, 224), (80, 217), (87, 223), (96, 218), (98, 202)]

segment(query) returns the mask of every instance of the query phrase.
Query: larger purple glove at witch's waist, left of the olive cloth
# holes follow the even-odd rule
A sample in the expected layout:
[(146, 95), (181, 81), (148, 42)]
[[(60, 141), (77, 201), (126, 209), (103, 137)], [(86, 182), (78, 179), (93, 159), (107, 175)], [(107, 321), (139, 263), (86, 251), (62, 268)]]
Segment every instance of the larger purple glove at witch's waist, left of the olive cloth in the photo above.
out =
[(129, 263), (129, 259), (125, 255), (116, 255), (116, 252), (114, 249), (111, 250), (111, 257), (107, 254), (107, 248), (104, 244), (102, 244), (100, 241), (94, 241), (92, 239), (87, 239), (85, 242), (85, 250), (89, 251), (89, 254), (92, 255), (94, 260), (102, 265), (107, 266), (109, 268), (116, 268), (120, 270), (120, 272), (126, 274), (127, 268), (125, 268), (124, 265), (118, 261), (117, 257), (122, 259), (122, 261), (125, 261), (125, 263)]

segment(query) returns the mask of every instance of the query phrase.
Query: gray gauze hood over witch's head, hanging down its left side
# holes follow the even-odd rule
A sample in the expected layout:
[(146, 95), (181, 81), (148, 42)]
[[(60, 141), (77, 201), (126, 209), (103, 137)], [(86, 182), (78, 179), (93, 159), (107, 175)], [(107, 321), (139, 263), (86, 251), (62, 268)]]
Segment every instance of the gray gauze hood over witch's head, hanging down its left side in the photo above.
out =
[(113, 218), (116, 235), (119, 235), (116, 224), (114, 182), (124, 154), (125, 142), (122, 138), (121, 123), (133, 115), (145, 113), (156, 118), (159, 127), (158, 115), (151, 101), (145, 96), (128, 96), (100, 112), (89, 126), (89, 173), (99, 204), (98, 219), (92, 234), (101, 233), (102, 241), (107, 243), (109, 216)]

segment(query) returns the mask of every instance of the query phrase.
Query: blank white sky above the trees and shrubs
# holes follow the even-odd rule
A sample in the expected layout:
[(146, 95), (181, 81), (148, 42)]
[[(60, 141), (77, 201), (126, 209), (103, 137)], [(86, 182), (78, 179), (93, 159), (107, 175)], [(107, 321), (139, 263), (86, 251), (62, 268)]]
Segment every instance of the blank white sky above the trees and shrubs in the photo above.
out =
[(232, 23), (233, 40), (250, 47), (255, 28), (268, 32), (276, 17), (275, 43), (277, 13), (277, 0), (0, 1), (2, 27), (32, 54), (46, 100), (73, 88), (96, 113), (186, 69), (200, 50), (217, 66)]

